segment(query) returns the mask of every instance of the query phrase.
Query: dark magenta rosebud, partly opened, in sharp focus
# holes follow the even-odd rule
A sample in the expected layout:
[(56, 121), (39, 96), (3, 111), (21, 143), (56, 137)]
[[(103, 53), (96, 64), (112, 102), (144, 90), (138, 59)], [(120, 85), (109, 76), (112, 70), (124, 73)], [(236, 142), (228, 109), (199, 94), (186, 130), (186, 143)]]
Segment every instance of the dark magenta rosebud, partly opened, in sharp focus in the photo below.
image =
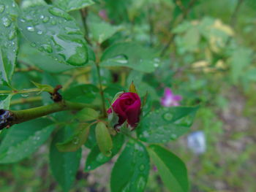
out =
[(118, 123), (114, 125), (115, 128), (121, 126), (126, 120), (129, 126), (135, 128), (140, 120), (140, 106), (140, 97), (137, 93), (121, 93), (107, 112), (109, 116), (113, 111), (118, 115)]

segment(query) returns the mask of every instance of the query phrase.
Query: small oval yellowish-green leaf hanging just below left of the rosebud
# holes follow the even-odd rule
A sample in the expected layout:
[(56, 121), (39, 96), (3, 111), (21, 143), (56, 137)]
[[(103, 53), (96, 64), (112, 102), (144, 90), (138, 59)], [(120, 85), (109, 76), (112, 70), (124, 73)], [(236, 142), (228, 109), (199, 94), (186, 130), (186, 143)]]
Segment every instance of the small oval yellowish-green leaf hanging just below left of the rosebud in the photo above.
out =
[(95, 128), (95, 135), (99, 150), (107, 157), (111, 155), (113, 142), (105, 123), (99, 122)]

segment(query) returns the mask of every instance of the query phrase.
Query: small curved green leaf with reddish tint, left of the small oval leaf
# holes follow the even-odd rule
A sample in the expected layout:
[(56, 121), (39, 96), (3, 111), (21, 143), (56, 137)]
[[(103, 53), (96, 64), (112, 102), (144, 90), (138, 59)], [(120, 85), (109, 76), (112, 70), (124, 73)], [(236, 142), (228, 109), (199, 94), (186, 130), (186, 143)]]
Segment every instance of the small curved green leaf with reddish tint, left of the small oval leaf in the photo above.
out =
[[(77, 125), (75, 125), (77, 126)], [(56, 147), (61, 152), (72, 152), (78, 150), (85, 144), (90, 131), (89, 123), (81, 123), (75, 130), (75, 134), (64, 142), (57, 143)]]

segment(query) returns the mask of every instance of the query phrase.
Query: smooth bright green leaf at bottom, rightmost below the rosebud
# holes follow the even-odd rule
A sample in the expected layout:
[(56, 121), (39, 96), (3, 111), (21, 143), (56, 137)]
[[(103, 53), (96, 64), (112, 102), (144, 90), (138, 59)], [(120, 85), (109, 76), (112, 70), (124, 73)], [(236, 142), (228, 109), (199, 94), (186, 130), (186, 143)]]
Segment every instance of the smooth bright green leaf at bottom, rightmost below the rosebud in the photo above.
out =
[(163, 183), (170, 191), (189, 191), (187, 168), (180, 158), (159, 145), (150, 145), (148, 152), (157, 166)]

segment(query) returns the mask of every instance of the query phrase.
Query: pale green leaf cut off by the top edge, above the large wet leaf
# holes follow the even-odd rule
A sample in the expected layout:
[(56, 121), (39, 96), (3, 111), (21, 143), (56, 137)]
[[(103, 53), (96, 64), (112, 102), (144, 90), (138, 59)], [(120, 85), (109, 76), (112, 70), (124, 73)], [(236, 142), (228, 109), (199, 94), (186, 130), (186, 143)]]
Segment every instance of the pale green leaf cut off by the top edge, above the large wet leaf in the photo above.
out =
[(53, 4), (69, 12), (73, 10), (82, 9), (84, 7), (88, 7), (94, 4), (94, 1), (92, 0), (55, 0), (53, 1)]

